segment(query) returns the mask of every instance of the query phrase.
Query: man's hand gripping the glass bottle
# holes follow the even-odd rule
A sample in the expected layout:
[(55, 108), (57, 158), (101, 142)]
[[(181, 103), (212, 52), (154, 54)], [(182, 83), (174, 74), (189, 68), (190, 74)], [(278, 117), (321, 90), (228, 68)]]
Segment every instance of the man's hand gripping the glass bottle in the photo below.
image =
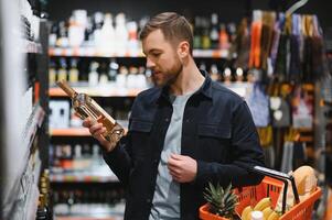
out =
[(90, 134), (99, 141), (106, 152), (114, 150), (111, 144), (103, 136), (103, 134), (107, 131), (103, 123), (98, 123), (96, 120), (88, 117), (83, 121), (83, 127), (89, 130)]

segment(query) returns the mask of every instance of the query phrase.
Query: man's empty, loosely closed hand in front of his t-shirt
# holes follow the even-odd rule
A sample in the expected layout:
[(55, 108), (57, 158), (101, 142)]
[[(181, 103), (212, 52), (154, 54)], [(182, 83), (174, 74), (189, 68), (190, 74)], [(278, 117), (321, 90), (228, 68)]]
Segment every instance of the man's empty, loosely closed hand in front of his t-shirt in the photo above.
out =
[(171, 154), (168, 167), (172, 178), (178, 183), (192, 182), (197, 174), (197, 162), (190, 156)]

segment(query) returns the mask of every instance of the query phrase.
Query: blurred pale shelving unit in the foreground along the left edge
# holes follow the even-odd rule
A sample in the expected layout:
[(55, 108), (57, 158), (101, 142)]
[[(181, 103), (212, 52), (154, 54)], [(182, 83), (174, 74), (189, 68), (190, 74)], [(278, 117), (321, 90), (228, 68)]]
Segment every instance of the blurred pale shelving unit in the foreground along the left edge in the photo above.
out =
[[(47, 28), (34, 16), (35, 41), (18, 30), (30, 3), (1, 3), (0, 219), (36, 218), (40, 175), (47, 168)], [(32, 15), (32, 12), (31, 12)], [(28, 20), (28, 19), (26, 19)], [(31, 22), (31, 20), (28, 20)], [(24, 62), (25, 61), (25, 62)], [(46, 150), (45, 150), (46, 148)]]

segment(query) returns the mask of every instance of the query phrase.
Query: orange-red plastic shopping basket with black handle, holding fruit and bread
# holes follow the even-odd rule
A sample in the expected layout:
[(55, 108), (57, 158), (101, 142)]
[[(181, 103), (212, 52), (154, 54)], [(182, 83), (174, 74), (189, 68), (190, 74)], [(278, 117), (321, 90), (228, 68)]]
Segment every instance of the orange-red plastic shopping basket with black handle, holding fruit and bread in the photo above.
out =
[[(300, 201), (298, 196), (298, 190), (294, 185), (292, 176), (287, 174), (268, 169), (265, 167), (256, 166), (255, 172), (261, 173), (265, 176), (263, 182), (257, 186), (243, 187), (236, 189), (235, 193), (238, 195), (238, 205), (236, 207), (236, 212), (242, 213), (244, 208), (251, 205), (253, 207), (263, 198), (270, 197), (272, 200), (272, 207), (275, 208), (279, 198), (279, 194), (283, 194), (282, 197), (282, 215), (279, 220), (311, 220), (311, 215), (313, 210), (314, 202), (322, 195), (320, 187), (317, 187), (315, 191), (310, 195), (306, 200)], [(288, 188), (288, 180), (291, 182), (291, 187), (293, 189), (296, 205), (288, 211), (286, 209), (286, 194)], [(285, 185), (283, 191), (282, 186)], [(213, 217), (208, 211), (208, 206), (204, 205), (200, 208), (200, 218), (203, 220), (226, 220), (222, 217)]]

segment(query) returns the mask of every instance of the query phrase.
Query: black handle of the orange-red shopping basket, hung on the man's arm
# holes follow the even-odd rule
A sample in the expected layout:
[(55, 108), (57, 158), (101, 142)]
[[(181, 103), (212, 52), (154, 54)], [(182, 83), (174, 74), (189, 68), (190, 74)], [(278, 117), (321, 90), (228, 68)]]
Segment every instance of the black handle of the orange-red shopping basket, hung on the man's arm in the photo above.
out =
[(287, 189), (288, 189), (288, 180), (290, 180), (291, 183), (291, 187), (292, 187), (292, 191), (294, 195), (294, 199), (296, 199), (296, 204), (300, 202), (300, 198), (299, 198), (299, 193), (296, 186), (296, 182), (292, 175), (288, 175), (281, 172), (277, 172), (270, 168), (266, 168), (263, 166), (254, 166), (254, 167), (248, 167), (249, 170), (258, 173), (258, 174), (263, 174), (265, 176), (269, 176), (272, 177), (275, 179), (281, 180), (283, 182), (285, 186), (283, 186), (283, 193), (282, 193), (282, 215), (286, 211), (286, 197), (287, 197)]

